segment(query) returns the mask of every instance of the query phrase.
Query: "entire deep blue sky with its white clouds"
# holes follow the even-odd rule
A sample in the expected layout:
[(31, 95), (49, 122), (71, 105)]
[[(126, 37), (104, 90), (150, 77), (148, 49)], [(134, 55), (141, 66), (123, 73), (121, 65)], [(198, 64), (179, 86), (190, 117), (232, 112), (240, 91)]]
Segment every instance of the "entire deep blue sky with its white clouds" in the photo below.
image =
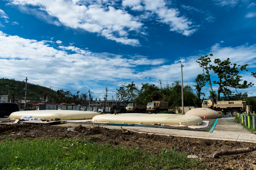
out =
[[(241, 75), (256, 84), (255, 1), (0, 0), (0, 77), (90, 89), (94, 99), (107, 87), (110, 99), (132, 81), (181, 80), (179, 61), (193, 86), (197, 58), (210, 53), (249, 64)], [(256, 95), (255, 87), (238, 92)]]

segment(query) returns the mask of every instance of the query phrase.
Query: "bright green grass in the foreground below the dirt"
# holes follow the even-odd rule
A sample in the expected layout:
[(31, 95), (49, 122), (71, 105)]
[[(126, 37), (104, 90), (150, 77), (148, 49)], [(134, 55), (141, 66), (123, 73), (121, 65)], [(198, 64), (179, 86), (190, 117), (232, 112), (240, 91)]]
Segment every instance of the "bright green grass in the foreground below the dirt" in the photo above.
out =
[(85, 139), (34, 139), (0, 143), (0, 169), (202, 169), (174, 150), (152, 155), (140, 148)]

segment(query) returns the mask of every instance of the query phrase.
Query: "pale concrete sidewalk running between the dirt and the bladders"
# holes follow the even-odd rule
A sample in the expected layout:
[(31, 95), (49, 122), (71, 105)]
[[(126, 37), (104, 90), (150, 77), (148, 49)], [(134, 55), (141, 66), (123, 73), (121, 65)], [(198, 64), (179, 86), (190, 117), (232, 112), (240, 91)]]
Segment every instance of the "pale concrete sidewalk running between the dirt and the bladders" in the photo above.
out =
[[(66, 123), (58, 124), (55, 126), (92, 126), (91, 124), (79, 124), (79, 123)], [(99, 126), (99, 125), (95, 125)], [(108, 126), (100, 125), (109, 129), (120, 129), (120, 126)], [(167, 128), (154, 128), (154, 127), (140, 127), (140, 126), (123, 126), (125, 129), (129, 129), (136, 132), (155, 133), (159, 135), (171, 135), (180, 137), (192, 137), (192, 138), (205, 138), (205, 139), (217, 139), (217, 140), (231, 140), (242, 142), (254, 142), (256, 143), (256, 135), (249, 132), (247, 129), (239, 123), (234, 123), (233, 119), (219, 118), (214, 130), (212, 132), (193, 131), (193, 130), (179, 130), (179, 129), (167, 129)]]

